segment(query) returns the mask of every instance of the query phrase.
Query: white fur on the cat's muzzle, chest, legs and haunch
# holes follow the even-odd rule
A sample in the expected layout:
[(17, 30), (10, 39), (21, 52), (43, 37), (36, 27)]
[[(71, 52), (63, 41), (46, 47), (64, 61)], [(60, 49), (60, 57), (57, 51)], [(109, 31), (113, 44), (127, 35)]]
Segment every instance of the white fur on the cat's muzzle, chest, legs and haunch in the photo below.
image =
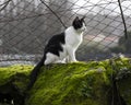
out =
[(74, 30), (73, 26), (68, 27), (64, 31), (66, 44), (62, 45), (63, 51), (60, 51), (60, 56), (56, 56), (51, 52), (46, 54), (46, 60), (44, 65), (57, 63), (57, 62), (75, 62), (75, 51), (83, 40), (83, 32), (86, 30), (85, 24), (79, 30)]

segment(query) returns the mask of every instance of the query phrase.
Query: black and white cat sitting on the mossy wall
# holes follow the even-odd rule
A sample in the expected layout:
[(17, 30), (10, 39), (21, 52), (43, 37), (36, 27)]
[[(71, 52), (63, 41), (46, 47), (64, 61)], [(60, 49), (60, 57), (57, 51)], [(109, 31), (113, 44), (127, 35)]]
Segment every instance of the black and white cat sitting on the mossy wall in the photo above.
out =
[(68, 27), (63, 33), (52, 36), (45, 47), (44, 57), (31, 73), (32, 88), (36, 81), (38, 71), (41, 66), (57, 62), (75, 62), (75, 51), (83, 40), (83, 33), (86, 30), (84, 18), (76, 16), (72, 22), (72, 26)]

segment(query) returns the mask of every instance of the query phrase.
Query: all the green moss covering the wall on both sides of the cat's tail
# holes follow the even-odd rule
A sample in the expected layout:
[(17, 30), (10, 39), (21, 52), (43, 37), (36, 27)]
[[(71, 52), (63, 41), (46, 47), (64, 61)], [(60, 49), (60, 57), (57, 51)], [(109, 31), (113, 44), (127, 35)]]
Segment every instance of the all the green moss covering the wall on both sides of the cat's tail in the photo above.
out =
[[(120, 105), (117, 103), (119, 96), (131, 105), (131, 59), (112, 58), (43, 67), (34, 86), (25, 92), (32, 68), (0, 68), (0, 93), (8, 92), (15, 97), (13, 94), (16, 92), (21, 100), (26, 93), (25, 105)], [(15, 92), (9, 83), (16, 89)], [(112, 94), (116, 86), (117, 93)]]

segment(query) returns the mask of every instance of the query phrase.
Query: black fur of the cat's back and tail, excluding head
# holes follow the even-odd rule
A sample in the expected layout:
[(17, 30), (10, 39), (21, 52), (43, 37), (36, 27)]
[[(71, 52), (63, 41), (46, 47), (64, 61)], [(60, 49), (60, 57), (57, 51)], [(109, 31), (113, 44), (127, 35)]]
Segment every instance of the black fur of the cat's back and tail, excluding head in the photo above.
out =
[(37, 66), (31, 72), (31, 77), (29, 77), (31, 82), (29, 82), (27, 89), (31, 89), (33, 86), (34, 82), (36, 81), (36, 78), (37, 78), (38, 72), (40, 70), (40, 67), (44, 66), (44, 61), (46, 59), (46, 54), (51, 52), (51, 54), (59, 56), (59, 51), (63, 50), (63, 48), (61, 47), (60, 44), (64, 44), (64, 43), (66, 43), (64, 33), (61, 33), (59, 35), (55, 35), (50, 38), (50, 40), (48, 42), (48, 44), (45, 47), (44, 57), (41, 58), (41, 60), (37, 63)]

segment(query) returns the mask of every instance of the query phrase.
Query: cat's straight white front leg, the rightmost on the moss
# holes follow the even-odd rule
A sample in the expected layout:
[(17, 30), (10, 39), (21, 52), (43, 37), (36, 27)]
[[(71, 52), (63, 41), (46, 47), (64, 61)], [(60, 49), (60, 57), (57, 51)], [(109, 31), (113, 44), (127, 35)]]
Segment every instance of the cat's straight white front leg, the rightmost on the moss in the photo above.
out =
[(71, 46), (67, 47), (68, 50), (68, 56), (69, 56), (69, 62), (76, 62), (76, 58), (75, 58), (75, 50), (74, 48), (72, 48)]

